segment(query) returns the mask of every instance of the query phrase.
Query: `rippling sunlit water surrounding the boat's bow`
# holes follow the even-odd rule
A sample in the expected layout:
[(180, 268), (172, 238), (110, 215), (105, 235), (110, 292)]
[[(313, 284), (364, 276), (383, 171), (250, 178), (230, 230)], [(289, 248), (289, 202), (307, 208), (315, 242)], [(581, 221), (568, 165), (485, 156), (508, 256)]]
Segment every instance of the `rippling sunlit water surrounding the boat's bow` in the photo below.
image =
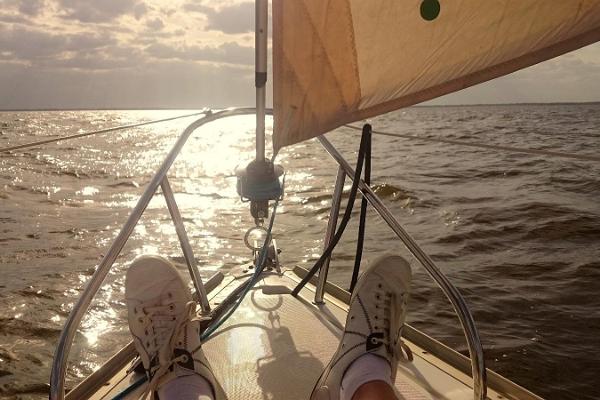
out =
[[(183, 113), (4, 112), (0, 147)], [(69, 310), (190, 121), (0, 155), (0, 398), (47, 397)], [(372, 123), (382, 131), (600, 152), (600, 104), (411, 108)], [(243, 235), (251, 219), (233, 170), (253, 156), (252, 124), (241, 117), (199, 131), (169, 174), (204, 276), (249, 260)], [(357, 133), (329, 136), (354, 162)], [(488, 366), (548, 399), (599, 398), (600, 166), (385, 136), (374, 137), (373, 153), (375, 191), (466, 297)], [(314, 141), (284, 150), (279, 162), (288, 171), (275, 229), (282, 261), (310, 267), (321, 251), (336, 165)], [(343, 286), (356, 219), (332, 262), (331, 277)], [(406, 254), (370, 211), (365, 259), (382, 251)], [(144, 253), (182, 259), (160, 195), (76, 336), (69, 387), (129, 340), (124, 271)], [(409, 321), (464, 353), (451, 308), (413, 265)]]

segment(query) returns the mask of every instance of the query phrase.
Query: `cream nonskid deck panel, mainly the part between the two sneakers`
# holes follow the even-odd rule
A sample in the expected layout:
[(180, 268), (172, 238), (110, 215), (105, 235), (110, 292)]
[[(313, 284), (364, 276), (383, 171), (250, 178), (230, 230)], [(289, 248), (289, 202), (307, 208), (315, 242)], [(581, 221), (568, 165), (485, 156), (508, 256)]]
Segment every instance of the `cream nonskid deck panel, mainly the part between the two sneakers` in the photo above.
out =
[[(204, 346), (231, 400), (306, 400), (338, 347), (343, 310), (327, 305), (321, 312), (295, 299), (287, 280), (269, 277), (257, 285)], [(399, 389), (406, 399), (431, 398), (410, 384)]]

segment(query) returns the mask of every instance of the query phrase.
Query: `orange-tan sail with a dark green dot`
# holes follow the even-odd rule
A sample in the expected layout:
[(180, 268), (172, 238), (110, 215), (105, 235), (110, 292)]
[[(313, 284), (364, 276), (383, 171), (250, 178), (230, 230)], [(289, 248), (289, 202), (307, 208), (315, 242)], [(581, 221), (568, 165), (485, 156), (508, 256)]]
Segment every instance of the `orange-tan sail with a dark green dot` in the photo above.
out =
[(600, 0), (274, 0), (275, 151), (600, 40)]

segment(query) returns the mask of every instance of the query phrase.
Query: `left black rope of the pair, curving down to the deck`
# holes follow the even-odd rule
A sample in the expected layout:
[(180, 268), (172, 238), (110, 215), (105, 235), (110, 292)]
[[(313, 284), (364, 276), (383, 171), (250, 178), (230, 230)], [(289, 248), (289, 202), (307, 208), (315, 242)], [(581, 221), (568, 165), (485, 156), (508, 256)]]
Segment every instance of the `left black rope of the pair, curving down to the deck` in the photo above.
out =
[(329, 246), (327, 246), (327, 249), (325, 249), (323, 254), (321, 254), (321, 257), (319, 257), (319, 259), (311, 268), (311, 270), (308, 271), (304, 279), (302, 279), (302, 281), (300, 281), (300, 283), (292, 291), (292, 296), (294, 297), (298, 296), (300, 290), (302, 290), (302, 288), (308, 283), (310, 278), (312, 278), (317, 273), (317, 271), (321, 269), (325, 260), (331, 256), (333, 249), (340, 241), (342, 235), (344, 234), (344, 230), (348, 225), (348, 221), (352, 216), (352, 207), (354, 206), (354, 200), (356, 199), (356, 193), (358, 192), (358, 183), (360, 181), (360, 174), (362, 172), (363, 161), (365, 159), (365, 149), (367, 147), (367, 131), (371, 131), (371, 125), (369, 124), (365, 124), (365, 126), (363, 127), (363, 135), (360, 138), (360, 147), (358, 149), (358, 160), (356, 161), (356, 171), (354, 172), (354, 180), (352, 181), (352, 188), (350, 189), (350, 195), (348, 196), (348, 203), (346, 206), (346, 211), (344, 211), (344, 216), (342, 217), (342, 222), (340, 223), (338, 230), (335, 232), (333, 239), (329, 243)]

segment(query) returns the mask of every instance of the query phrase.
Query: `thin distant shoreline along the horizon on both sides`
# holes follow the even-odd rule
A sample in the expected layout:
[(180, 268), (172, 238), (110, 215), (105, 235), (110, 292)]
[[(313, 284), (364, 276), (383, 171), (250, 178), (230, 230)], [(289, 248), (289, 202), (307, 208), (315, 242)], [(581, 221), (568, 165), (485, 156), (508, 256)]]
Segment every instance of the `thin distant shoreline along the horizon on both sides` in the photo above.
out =
[[(421, 107), (489, 107), (489, 106), (551, 106), (551, 105), (586, 105), (600, 104), (598, 101), (573, 101), (573, 102), (532, 102), (532, 103), (477, 103), (477, 104), (417, 104), (406, 108), (421, 108)], [(41, 111), (201, 111), (205, 107), (150, 107), (150, 108), (7, 108), (0, 109), (0, 112), (41, 112)], [(213, 110), (219, 110), (225, 107), (215, 107)], [(392, 111), (393, 112), (393, 111)]]

